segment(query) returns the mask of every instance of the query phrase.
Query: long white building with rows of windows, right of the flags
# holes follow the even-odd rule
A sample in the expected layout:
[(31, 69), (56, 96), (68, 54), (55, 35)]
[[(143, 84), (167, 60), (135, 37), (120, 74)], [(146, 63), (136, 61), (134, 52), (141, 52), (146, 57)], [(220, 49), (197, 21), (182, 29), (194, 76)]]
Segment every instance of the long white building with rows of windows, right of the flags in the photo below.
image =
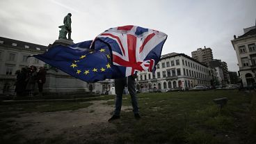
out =
[(187, 90), (194, 86), (211, 86), (207, 65), (185, 54), (163, 55), (156, 68), (154, 73), (138, 73), (137, 89), (147, 92), (154, 88), (166, 91), (172, 89)]

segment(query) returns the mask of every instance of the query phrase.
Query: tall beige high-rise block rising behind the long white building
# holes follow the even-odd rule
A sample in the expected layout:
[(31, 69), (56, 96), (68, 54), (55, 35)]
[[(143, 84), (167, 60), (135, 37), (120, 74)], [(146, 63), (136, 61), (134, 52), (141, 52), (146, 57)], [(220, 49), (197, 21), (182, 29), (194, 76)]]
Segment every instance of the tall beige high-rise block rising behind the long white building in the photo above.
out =
[(191, 55), (192, 55), (192, 58), (194, 58), (195, 60), (201, 63), (205, 63), (206, 65), (209, 65), (209, 62), (213, 61), (214, 59), (212, 50), (209, 47), (208, 48), (205, 47), (205, 49), (199, 48), (196, 51), (192, 51)]

